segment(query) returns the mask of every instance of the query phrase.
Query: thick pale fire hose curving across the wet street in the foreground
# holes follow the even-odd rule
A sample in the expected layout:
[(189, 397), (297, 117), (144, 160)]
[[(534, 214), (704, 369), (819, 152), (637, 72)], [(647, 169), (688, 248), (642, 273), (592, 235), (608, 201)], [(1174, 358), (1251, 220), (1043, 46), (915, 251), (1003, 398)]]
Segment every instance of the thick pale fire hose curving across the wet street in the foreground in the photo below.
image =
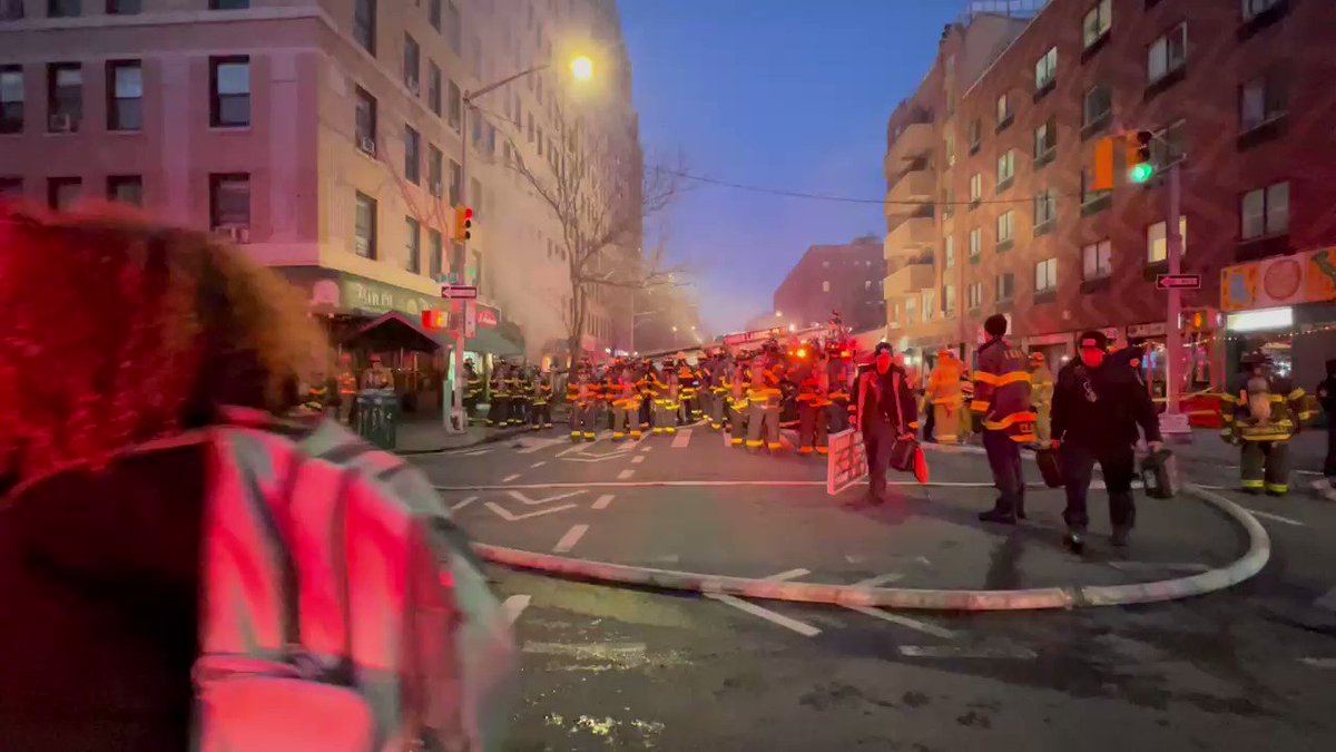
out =
[(569, 557), (556, 557), (536, 551), (505, 549), (488, 543), (473, 547), (484, 559), (516, 569), (545, 574), (589, 579), (596, 582), (636, 585), (680, 590), (794, 601), (803, 603), (830, 603), (838, 606), (878, 606), (906, 610), (945, 612), (1007, 612), (1073, 609), (1086, 606), (1114, 606), (1154, 603), (1192, 595), (1202, 595), (1232, 587), (1253, 577), (1271, 559), (1271, 537), (1246, 510), (1229, 499), (1196, 486), (1184, 488), (1208, 504), (1225, 512), (1248, 533), (1248, 551), (1228, 566), (1161, 582), (1138, 582), (1110, 586), (1037, 587), (1030, 590), (914, 590), (900, 587), (856, 587), (815, 582), (776, 582), (747, 577), (723, 577), (691, 571), (652, 569)]

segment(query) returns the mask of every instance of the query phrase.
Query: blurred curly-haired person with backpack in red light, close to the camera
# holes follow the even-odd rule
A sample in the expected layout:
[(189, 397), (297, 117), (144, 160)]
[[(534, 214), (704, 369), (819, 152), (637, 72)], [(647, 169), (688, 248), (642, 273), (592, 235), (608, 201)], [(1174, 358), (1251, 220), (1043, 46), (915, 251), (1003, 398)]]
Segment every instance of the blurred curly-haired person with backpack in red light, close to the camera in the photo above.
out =
[(277, 417), (323, 352), (210, 236), (0, 206), (0, 747), (496, 747), (513, 644), (441, 500)]

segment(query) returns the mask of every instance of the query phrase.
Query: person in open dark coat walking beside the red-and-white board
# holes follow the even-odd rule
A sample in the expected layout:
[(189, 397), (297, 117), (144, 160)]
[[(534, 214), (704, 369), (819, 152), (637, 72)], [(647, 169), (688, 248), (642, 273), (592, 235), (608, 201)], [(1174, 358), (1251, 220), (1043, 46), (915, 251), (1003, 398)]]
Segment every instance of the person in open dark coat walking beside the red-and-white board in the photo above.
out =
[(867, 451), (867, 503), (879, 504), (886, 494), (886, 471), (898, 438), (918, 431), (918, 403), (908, 375), (895, 364), (891, 345), (880, 343), (872, 367), (859, 375), (858, 430)]

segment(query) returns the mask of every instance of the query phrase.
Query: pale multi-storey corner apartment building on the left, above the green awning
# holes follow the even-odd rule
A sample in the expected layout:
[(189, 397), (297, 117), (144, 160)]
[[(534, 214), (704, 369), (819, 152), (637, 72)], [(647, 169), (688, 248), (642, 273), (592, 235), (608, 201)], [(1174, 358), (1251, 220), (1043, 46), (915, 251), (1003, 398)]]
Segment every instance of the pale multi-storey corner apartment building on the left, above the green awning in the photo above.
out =
[[(568, 82), (576, 50), (599, 59), (596, 91)], [(465, 92), (546, 62), (465, 116)], [(337, 332), (440, 309), (453, 276), (485, 304), (470, 352), (556, 356), (562, 233), (510, 165), (573, 154), (587, 201), (636, 201), (612, 0), (0, 0), (0, 191), (214, 229)], [(454, 205), (476, 211), (466, 250)], [(629, 294), (600, 296), (582, 347), (624, 347), (625, 310)]]

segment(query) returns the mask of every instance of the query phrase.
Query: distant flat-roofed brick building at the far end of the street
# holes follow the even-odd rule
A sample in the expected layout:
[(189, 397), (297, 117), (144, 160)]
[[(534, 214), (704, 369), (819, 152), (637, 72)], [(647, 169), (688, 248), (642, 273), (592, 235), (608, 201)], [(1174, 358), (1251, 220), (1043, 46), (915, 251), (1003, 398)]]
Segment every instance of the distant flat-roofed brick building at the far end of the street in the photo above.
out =
[(775, 290), (775, 310), (798, 325), (824, 324), (839, 312), (855, 332), (886, 325), (882, 241), (875, 236), (846, 245), (814, 245)]

